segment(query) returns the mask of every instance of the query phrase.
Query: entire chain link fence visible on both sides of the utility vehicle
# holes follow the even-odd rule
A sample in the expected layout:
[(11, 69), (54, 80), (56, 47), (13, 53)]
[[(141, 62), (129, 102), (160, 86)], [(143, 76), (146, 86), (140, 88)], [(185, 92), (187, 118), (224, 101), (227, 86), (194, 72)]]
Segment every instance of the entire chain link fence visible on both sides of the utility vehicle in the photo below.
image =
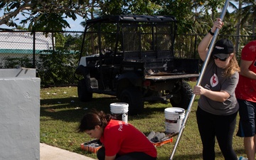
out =
[[(95, 34), (95, 33), (92, 33)], [(205, 35), (177, 35), (174, 53), (178, 58), (199, 58), (197, 46)], [(77, 85), (75, 69), (78, 67), (83, 32), (62, 31), (1, 31), (0, 68), (36, 68), (41, 87)], [(237, 57), (253, 36), (218, 35), (238, 43)], [(85, 40), (90, 43), (92, 40)], [(88, 51), (88, 50), (87, 50)], [(90, 53), (87, 53), (90, 55)]]

